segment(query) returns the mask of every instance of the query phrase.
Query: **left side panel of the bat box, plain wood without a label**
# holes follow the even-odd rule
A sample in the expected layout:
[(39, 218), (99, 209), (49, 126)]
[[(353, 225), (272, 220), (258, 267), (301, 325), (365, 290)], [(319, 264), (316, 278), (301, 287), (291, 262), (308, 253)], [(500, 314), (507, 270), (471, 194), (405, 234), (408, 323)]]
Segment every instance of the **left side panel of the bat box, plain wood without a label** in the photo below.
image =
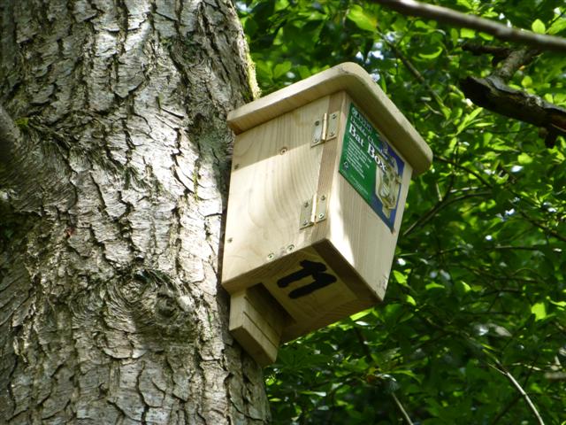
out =
[(322, 97), (236, 136), (222, 271), (230, 293), (255, 284), (254, 270), (277, 268), (274, 259), (310, 245), (301, 205), (317, 192), (323, 150), (310, 142), (329, 102)]

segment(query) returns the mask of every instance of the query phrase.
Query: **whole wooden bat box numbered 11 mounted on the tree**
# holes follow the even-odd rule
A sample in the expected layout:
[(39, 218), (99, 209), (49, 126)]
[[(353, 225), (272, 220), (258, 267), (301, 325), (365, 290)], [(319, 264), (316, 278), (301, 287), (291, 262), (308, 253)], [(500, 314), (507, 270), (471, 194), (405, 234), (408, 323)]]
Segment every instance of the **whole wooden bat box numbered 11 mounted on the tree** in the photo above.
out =
[(432, 151), (371, 76), (334, 66), (233, 111), (222, 285), (260, 365), (378, 303), (411, 174)]

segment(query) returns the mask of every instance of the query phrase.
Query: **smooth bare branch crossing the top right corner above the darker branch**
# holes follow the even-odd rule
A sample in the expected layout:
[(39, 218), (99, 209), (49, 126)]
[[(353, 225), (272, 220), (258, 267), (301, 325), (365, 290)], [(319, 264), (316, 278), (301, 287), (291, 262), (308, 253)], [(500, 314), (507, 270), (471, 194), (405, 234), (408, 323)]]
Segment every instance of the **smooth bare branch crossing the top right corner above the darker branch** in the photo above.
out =
[(456, 12), (446, 7), (423, 4), (414, 0), (371, 0), (404, 15), (434, 19), (456, 27), (466, 27), (493, 35), (506, 42), (516, 42), (540, 50), (566, 50), (566, 39), (553, 35), (535, 34), (524, 29), (507, 27), (490, 19)]

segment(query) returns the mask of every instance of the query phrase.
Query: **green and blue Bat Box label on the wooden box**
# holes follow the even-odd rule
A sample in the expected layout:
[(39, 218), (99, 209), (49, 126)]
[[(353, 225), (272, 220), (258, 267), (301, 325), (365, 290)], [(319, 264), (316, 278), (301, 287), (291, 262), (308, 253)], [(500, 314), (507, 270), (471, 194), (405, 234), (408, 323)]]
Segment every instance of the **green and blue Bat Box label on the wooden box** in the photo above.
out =
[(350, 105), (340, 174), (393, 231), (405, 164), (354, 104)]

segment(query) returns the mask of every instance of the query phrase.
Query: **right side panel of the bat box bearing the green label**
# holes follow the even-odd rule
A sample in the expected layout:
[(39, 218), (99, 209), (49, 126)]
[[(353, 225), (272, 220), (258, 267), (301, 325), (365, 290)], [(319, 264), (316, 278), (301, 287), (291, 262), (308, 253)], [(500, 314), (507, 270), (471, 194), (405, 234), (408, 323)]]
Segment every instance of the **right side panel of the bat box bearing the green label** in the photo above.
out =
[[(345, 128), (335, 157), (328, 239), (373, 294), (383, 299), (412, 167), (396, 151), (395, 141), (383, 136), (383, 124), (365, 119), (362, 106), (353, 105), (350, 97), (343, 112), (340, 120)], [(357, 122), (352, 120), (356, 113)], [(368, 125), (371, 128), (362, 134)], [(384, 183), (388, 178), (384, 170), (391, 174), (390, 184)]]

